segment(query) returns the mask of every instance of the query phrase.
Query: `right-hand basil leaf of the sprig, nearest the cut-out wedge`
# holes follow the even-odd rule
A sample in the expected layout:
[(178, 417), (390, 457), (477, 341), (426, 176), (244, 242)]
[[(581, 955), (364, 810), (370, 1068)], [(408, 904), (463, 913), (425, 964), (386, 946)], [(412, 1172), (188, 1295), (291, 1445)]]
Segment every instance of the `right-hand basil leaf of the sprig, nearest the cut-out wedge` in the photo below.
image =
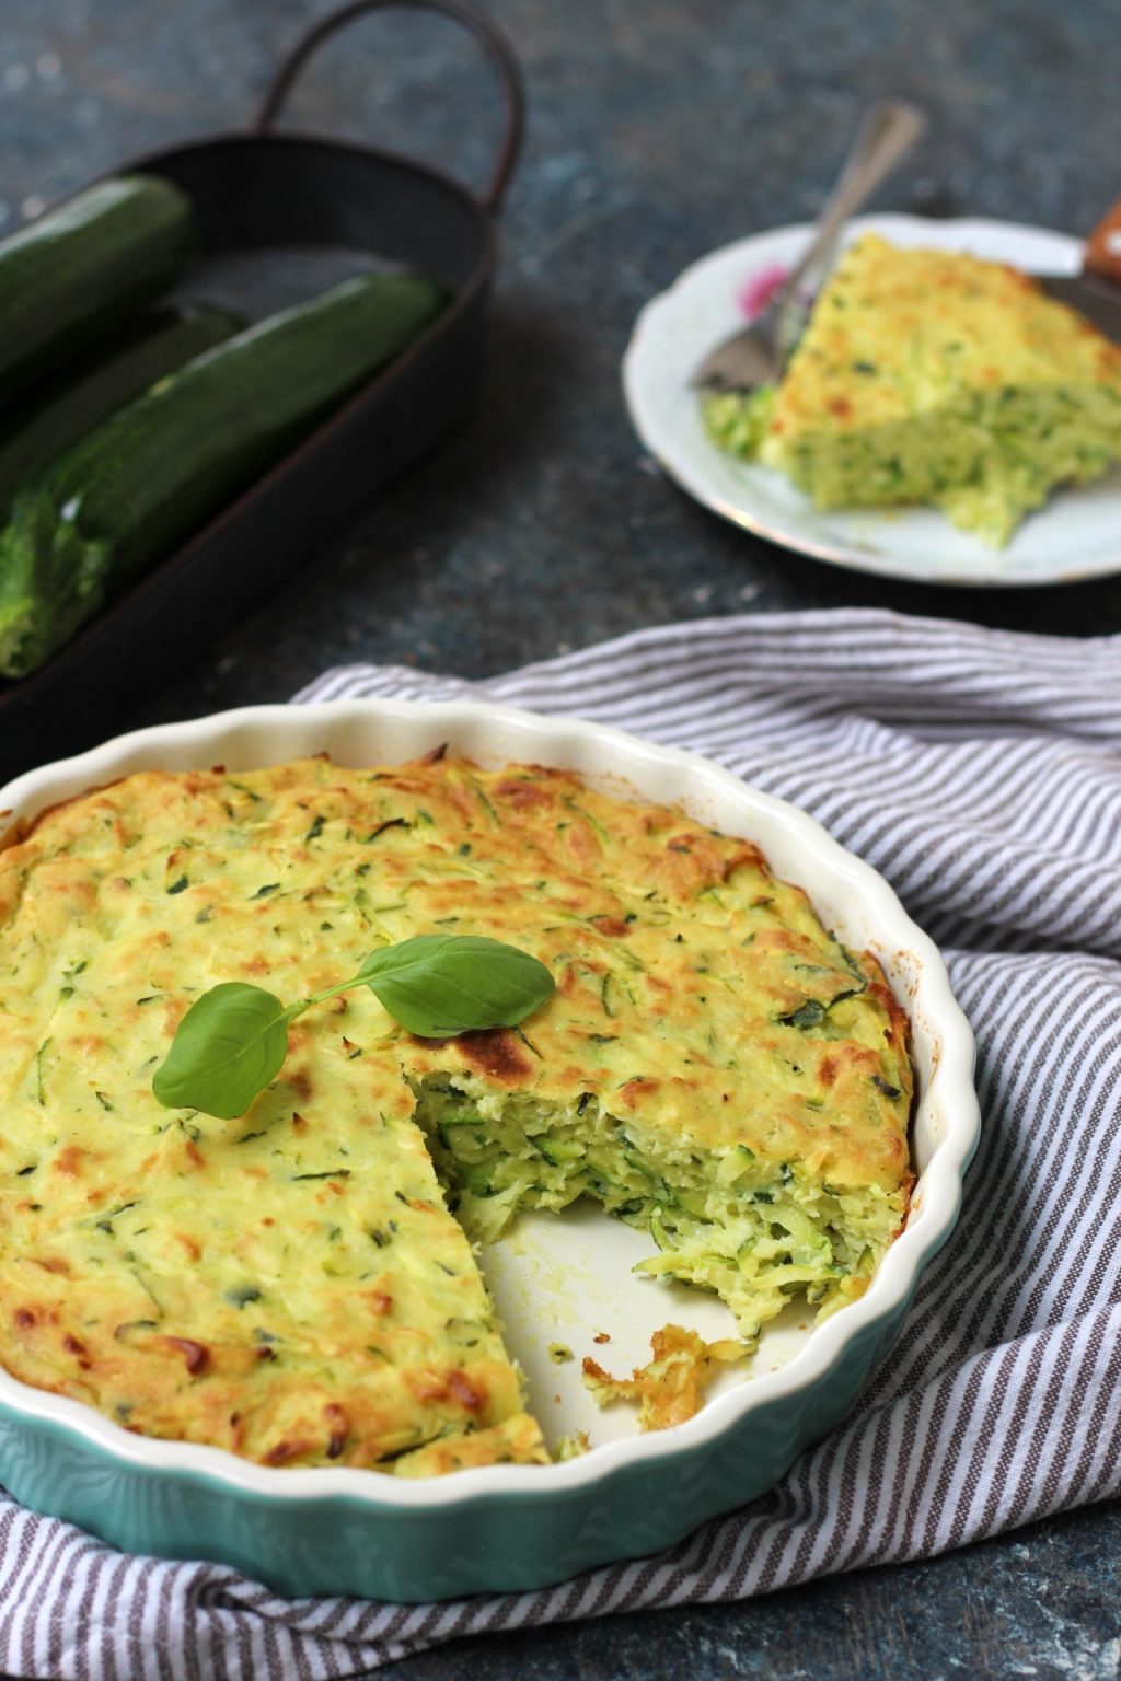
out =
[(484, 935), (415, 935), (361, 965), (393, 1020), (422, 1039), (514, 1027), (556, 992), (545, 963)]

